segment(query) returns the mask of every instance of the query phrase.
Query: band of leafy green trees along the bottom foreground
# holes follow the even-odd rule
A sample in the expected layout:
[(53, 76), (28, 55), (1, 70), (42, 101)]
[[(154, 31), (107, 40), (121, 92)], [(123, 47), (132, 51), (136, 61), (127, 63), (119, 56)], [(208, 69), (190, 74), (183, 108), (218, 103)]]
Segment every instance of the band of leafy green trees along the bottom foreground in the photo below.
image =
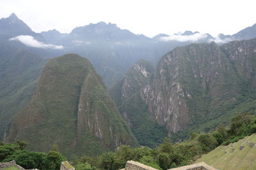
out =
[[(172, 143), (164, 138), (156, 148), (131, 148), (122, 145), (115, 152), (106, 152), (99, 157), (73, 156), (71, 164), (77, 170), (122, 169), (127, 160), (134, 160), (157, 169), (169, 169), (193, 163), (202, 154), (214, 150), (217, 146), (228, 145), (256, 132), (256, 115), (242, 113), (232, 118), (230, 126), (220, 125), (215, 131), (207, 134), (192, 133), (188, 141)], [(60, 169), (60, 163), (67, 160), (60, 153), (57, 145), (53, 145), (48, 153), (30, 152), (26, 150), (24, 141), (16, 143), (0, 143), (0, 162), (15, 160), (26, 168), (42, 170)]]

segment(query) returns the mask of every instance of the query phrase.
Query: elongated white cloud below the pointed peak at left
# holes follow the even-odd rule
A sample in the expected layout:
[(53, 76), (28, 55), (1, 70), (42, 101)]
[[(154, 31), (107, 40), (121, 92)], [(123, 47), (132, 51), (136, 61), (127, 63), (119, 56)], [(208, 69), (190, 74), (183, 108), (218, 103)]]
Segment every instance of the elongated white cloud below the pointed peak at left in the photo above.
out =
[(35, 48), (52, 48), (52, 49), (62, 49), (62, 45), (51, 45), (45, 44), (43, 42), (37, 41), (33, 36), (16, 36), (14, 38), (10, 38), (10, 41), (20, 41), (26, 46), (32, 46)]

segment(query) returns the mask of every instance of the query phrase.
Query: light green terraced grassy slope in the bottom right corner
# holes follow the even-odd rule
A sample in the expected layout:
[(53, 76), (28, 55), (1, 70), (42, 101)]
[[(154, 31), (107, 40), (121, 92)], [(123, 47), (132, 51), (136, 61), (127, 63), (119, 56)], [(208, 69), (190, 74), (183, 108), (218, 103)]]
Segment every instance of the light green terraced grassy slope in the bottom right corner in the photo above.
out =
[[(256, 146), (250, 147), (250, 143), (256, 143), (256, 134), (240, 139), (236, 143), (230, 143), (228, 146), (219, 146), (196, 162), (204, 161), (223, 170), (256, 169)], [(241, 145), (244, 146), (243, 150), (240, 150)]]

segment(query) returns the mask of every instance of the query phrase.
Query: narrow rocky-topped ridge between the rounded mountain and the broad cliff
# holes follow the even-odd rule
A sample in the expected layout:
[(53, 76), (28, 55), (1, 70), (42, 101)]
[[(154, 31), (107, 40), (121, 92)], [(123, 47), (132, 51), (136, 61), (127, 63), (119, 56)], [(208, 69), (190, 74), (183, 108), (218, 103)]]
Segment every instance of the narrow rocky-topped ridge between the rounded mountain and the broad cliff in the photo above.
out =
[(115, 83), (110, 94), (140, 145), (155, 148), (163, 142), (168, 131), (157, 124), (140, 97), (140, 90), (150, 81), (152, 73), (152, 64), (140, 60), (127, 71), (123, 80)]

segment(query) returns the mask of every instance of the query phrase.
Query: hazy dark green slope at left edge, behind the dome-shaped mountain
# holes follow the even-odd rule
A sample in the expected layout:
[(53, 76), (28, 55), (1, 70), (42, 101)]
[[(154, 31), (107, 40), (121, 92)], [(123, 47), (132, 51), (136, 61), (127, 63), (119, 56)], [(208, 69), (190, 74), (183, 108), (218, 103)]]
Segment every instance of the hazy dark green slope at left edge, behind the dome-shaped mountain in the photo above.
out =
[(11, 118), (33, 96), (45, 60), (24, 48), (8, 45), (0, 46), (0, 60), (0, 140), (4, 140)]

